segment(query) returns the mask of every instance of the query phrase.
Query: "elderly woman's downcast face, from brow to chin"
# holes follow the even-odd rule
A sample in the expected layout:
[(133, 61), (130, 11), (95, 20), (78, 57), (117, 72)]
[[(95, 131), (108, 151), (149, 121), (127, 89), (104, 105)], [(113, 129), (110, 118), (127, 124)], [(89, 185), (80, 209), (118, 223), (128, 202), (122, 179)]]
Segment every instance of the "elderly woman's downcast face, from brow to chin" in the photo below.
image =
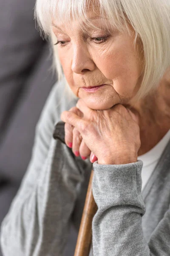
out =
[[(90, 18), (93, 20), (93, 15)], [(86, 33), (78, 21), (71, 22), (71, 26), (54, 24), (54, 43), (65, 78), (89, 108), (104, 110), (118, 103), (129, 104), (142, 74), (133, 33), (127, 35), (111, 28), (107, 32), (103, 25), (107, 20), (99, 17), (93, 22), (97, 29), (88, 28)]]

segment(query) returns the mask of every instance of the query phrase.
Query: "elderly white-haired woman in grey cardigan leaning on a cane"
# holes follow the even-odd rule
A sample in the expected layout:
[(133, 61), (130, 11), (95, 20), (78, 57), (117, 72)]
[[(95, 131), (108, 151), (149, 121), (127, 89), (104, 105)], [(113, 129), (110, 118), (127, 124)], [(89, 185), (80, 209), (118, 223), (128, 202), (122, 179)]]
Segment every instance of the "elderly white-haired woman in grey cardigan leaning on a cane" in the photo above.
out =
[[(94, 256), (170, 255), (170, 1), (37, 0), (36, 12), (64, 78), (3, 221), (4, 256), (63, 255), (91, 163)], [(60, 116), (66, 145), (52, 137)]]

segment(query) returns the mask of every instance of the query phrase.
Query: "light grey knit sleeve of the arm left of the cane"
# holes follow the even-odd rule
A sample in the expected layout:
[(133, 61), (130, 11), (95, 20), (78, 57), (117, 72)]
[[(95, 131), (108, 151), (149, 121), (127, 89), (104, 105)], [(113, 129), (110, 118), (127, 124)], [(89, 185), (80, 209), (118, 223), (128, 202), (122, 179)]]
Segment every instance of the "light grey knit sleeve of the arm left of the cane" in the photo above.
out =
[(64, 252), (77, 186), (84, 173), (72, 151), (52, 137), (61, 111), (71, 107), (57, 86), (42, 111), (31, 162), (2, 223), (4, 256), (62, 256)]

